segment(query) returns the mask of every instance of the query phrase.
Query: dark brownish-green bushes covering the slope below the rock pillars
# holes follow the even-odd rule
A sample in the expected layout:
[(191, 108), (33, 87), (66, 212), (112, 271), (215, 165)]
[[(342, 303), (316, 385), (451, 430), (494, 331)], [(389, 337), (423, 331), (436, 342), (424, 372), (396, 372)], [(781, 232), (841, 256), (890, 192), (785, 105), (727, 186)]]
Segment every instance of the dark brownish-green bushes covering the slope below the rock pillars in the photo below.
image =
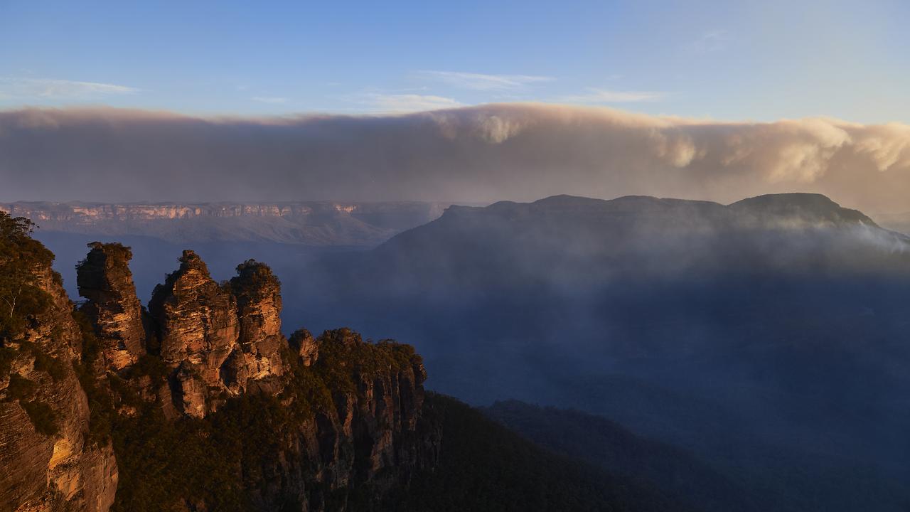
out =
[[(365, 343), (348, 329), (323, 333), (319, 346), (319, 361), (312, 366), (301, 364), (294, 353), (285, 354), (290, 383), (278, 396), (226, 397), (217, 412), (203, 419), (168, 421), (158, 404), (136, 395), (129, 379), (149, 375), (164, 383), (167, 368), (155, 356), (141, 358), (124, 375), (126, 380), (108, 375), (109, 393), (83, 384), (93, 408), (93, 435), (106, 432), (114, 440), (120, 481), (113, 510), (142, 512), (178, 503), (204, 503), (208, 510), (227, 512), (261, 508), (259, 486), (267, 485), (275, 465), (294, 449), (293, 436), (303, 422), (330, 414), (333, 393), (357, 393), (360, 378), (419, 361), (410, 346)], [(113, 402), (105, 396), (113, 396)], [(136, 415), (116, 414), (116, 404), (136, 407)], [(104, 411), (104, 417), (96, 417), (96, 411)], [(327, 505), (357, 498), (347, 497), (345, 489), (309, 488), (308, 493)], [(299, 510), (296, 497), (286, 499), (284, 507)]]

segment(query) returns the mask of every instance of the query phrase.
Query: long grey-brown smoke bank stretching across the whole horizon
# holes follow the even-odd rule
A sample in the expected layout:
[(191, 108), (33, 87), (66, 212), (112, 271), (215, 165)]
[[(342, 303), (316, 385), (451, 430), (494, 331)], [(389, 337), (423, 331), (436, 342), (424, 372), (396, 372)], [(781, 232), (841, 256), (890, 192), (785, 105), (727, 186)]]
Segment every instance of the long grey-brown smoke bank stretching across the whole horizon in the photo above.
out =
[(0, 200), (537, 200), (729, 203), (817, 192), (910, 210), (910, 126), (772, 123), (500, 104), (385, 117), (0, 112)]

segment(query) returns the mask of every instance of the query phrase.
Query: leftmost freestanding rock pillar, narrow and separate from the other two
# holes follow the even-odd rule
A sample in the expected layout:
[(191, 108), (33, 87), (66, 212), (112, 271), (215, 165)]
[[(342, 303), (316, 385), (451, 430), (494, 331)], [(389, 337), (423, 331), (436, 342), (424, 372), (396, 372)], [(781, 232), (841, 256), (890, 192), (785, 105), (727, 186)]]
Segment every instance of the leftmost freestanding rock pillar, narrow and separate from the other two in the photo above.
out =
[(119, 243), (89, 244), (91, 251), (76, 267), (81, 310), (96, 327), (103, 364), (122, 370), (145, 353), (142, 305), (136, 297), (129, 261), (133, 254)]

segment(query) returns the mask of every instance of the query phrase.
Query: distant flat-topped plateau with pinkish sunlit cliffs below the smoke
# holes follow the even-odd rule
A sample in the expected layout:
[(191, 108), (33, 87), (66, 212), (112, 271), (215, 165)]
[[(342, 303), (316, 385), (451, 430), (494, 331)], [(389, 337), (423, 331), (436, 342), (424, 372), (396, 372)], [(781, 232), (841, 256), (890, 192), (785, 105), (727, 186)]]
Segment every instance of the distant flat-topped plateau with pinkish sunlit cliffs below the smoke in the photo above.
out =
[(450, 203), (88, 203), (14, 202), (0, 210), (42, 230), (148, 236), (172, 243), (268, 241), (308, 246), (371, 247), (438, 218)]

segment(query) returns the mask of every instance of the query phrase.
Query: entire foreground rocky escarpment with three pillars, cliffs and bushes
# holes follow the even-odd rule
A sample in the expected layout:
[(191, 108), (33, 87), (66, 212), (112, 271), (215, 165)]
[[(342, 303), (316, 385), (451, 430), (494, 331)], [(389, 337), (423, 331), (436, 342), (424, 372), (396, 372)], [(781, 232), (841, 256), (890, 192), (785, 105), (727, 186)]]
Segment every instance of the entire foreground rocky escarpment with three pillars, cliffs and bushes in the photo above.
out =
[(16, 232), (41, 258), (0, 241), (34, 292), (0, 324), (0, 510), (369, 509), (436, 464), (420, 356), (348, 329), (288, 343), (267, 265), (218, 283), (185, 251), (145, 311), (129, 248), (92, 243), (74, 310)]

